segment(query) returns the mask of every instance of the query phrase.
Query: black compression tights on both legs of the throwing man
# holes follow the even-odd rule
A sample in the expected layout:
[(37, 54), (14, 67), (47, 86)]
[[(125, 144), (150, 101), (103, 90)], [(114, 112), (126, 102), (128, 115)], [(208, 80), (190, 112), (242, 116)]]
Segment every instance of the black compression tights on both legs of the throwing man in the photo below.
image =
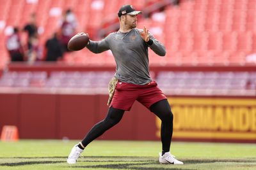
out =
[[(167, 99), (158, 101), (150, 106), (150, 111), (155, 113), (162, 121), (161, 124), (161, 141), (163, 145), (163, 152), (170, 151), (170, 143), (173, 131), (173, 114)], [(139, 114), (139, 113), (138, 113)], [(110, 107), (108, 114), (104, 120), (95, 124), (90, 132), (86, 134), (81, 143), (86, 147), (94, 139), (98, 138), (104, 132), (108, 131), (111, 127), (118, 124), (124, 115), (124, 110), (118, 110)]]

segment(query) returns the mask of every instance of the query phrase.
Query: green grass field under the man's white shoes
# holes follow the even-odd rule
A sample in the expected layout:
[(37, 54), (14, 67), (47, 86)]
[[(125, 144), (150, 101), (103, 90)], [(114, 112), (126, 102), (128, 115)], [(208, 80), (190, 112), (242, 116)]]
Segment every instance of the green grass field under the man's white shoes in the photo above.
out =
[(172, 143), (184, 165), (161, 165), (157, 141), (93, 141), (77, 164), (66, 163), (78, 141), (20, 140), (0, 142), (0, 169), (256, 169), (256, 145)]

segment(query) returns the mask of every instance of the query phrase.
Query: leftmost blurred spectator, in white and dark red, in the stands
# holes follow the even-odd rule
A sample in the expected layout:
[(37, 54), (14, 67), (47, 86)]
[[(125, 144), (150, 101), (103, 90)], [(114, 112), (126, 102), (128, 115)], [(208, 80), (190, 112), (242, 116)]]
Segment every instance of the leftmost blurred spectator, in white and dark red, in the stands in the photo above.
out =
[(20, 41), (18, 27), (14, 27), (13, 33), (6, 39), (6, 48), (10, 53), (10, 58), (12, 61), (24, 60), (24, 50), (22, 48), (22, 43)]

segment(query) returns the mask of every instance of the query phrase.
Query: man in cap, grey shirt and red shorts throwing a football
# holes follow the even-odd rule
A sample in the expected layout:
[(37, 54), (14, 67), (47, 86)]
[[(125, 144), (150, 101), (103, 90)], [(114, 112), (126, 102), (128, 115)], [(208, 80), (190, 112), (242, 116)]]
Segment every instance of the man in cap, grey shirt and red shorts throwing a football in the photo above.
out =
[[(139, 101), (162, 121), (162, 164), (183, 164), (170, 154), (173, 132), (173, 113), (156, 81), (150, 78), (148, 68), (148, 48), (157, 55), (166, 54), (165, 47), (148, 29), (137, 29), (137, 15), (131, 5), (124, 5), (118, 11), (120, 29), (101, 41), (89, 41), (87, 48), (93, 53), (111, 50), (116, 61), (116, 74), (109, 83), (109, 110), (104, 120), (94, 125), (85, 138), (75, 145), (68, 156), (68, 164), (75, 164), (80, 153), (94, 139), (118, 124), (124, 112), (129, 111), (134, 101)], [(79, 118), (78, 118), (79, 120)], [(142, 122), (143, 123), (143, 122)], [(77, 129), (80, 131), (81, 129)]]

